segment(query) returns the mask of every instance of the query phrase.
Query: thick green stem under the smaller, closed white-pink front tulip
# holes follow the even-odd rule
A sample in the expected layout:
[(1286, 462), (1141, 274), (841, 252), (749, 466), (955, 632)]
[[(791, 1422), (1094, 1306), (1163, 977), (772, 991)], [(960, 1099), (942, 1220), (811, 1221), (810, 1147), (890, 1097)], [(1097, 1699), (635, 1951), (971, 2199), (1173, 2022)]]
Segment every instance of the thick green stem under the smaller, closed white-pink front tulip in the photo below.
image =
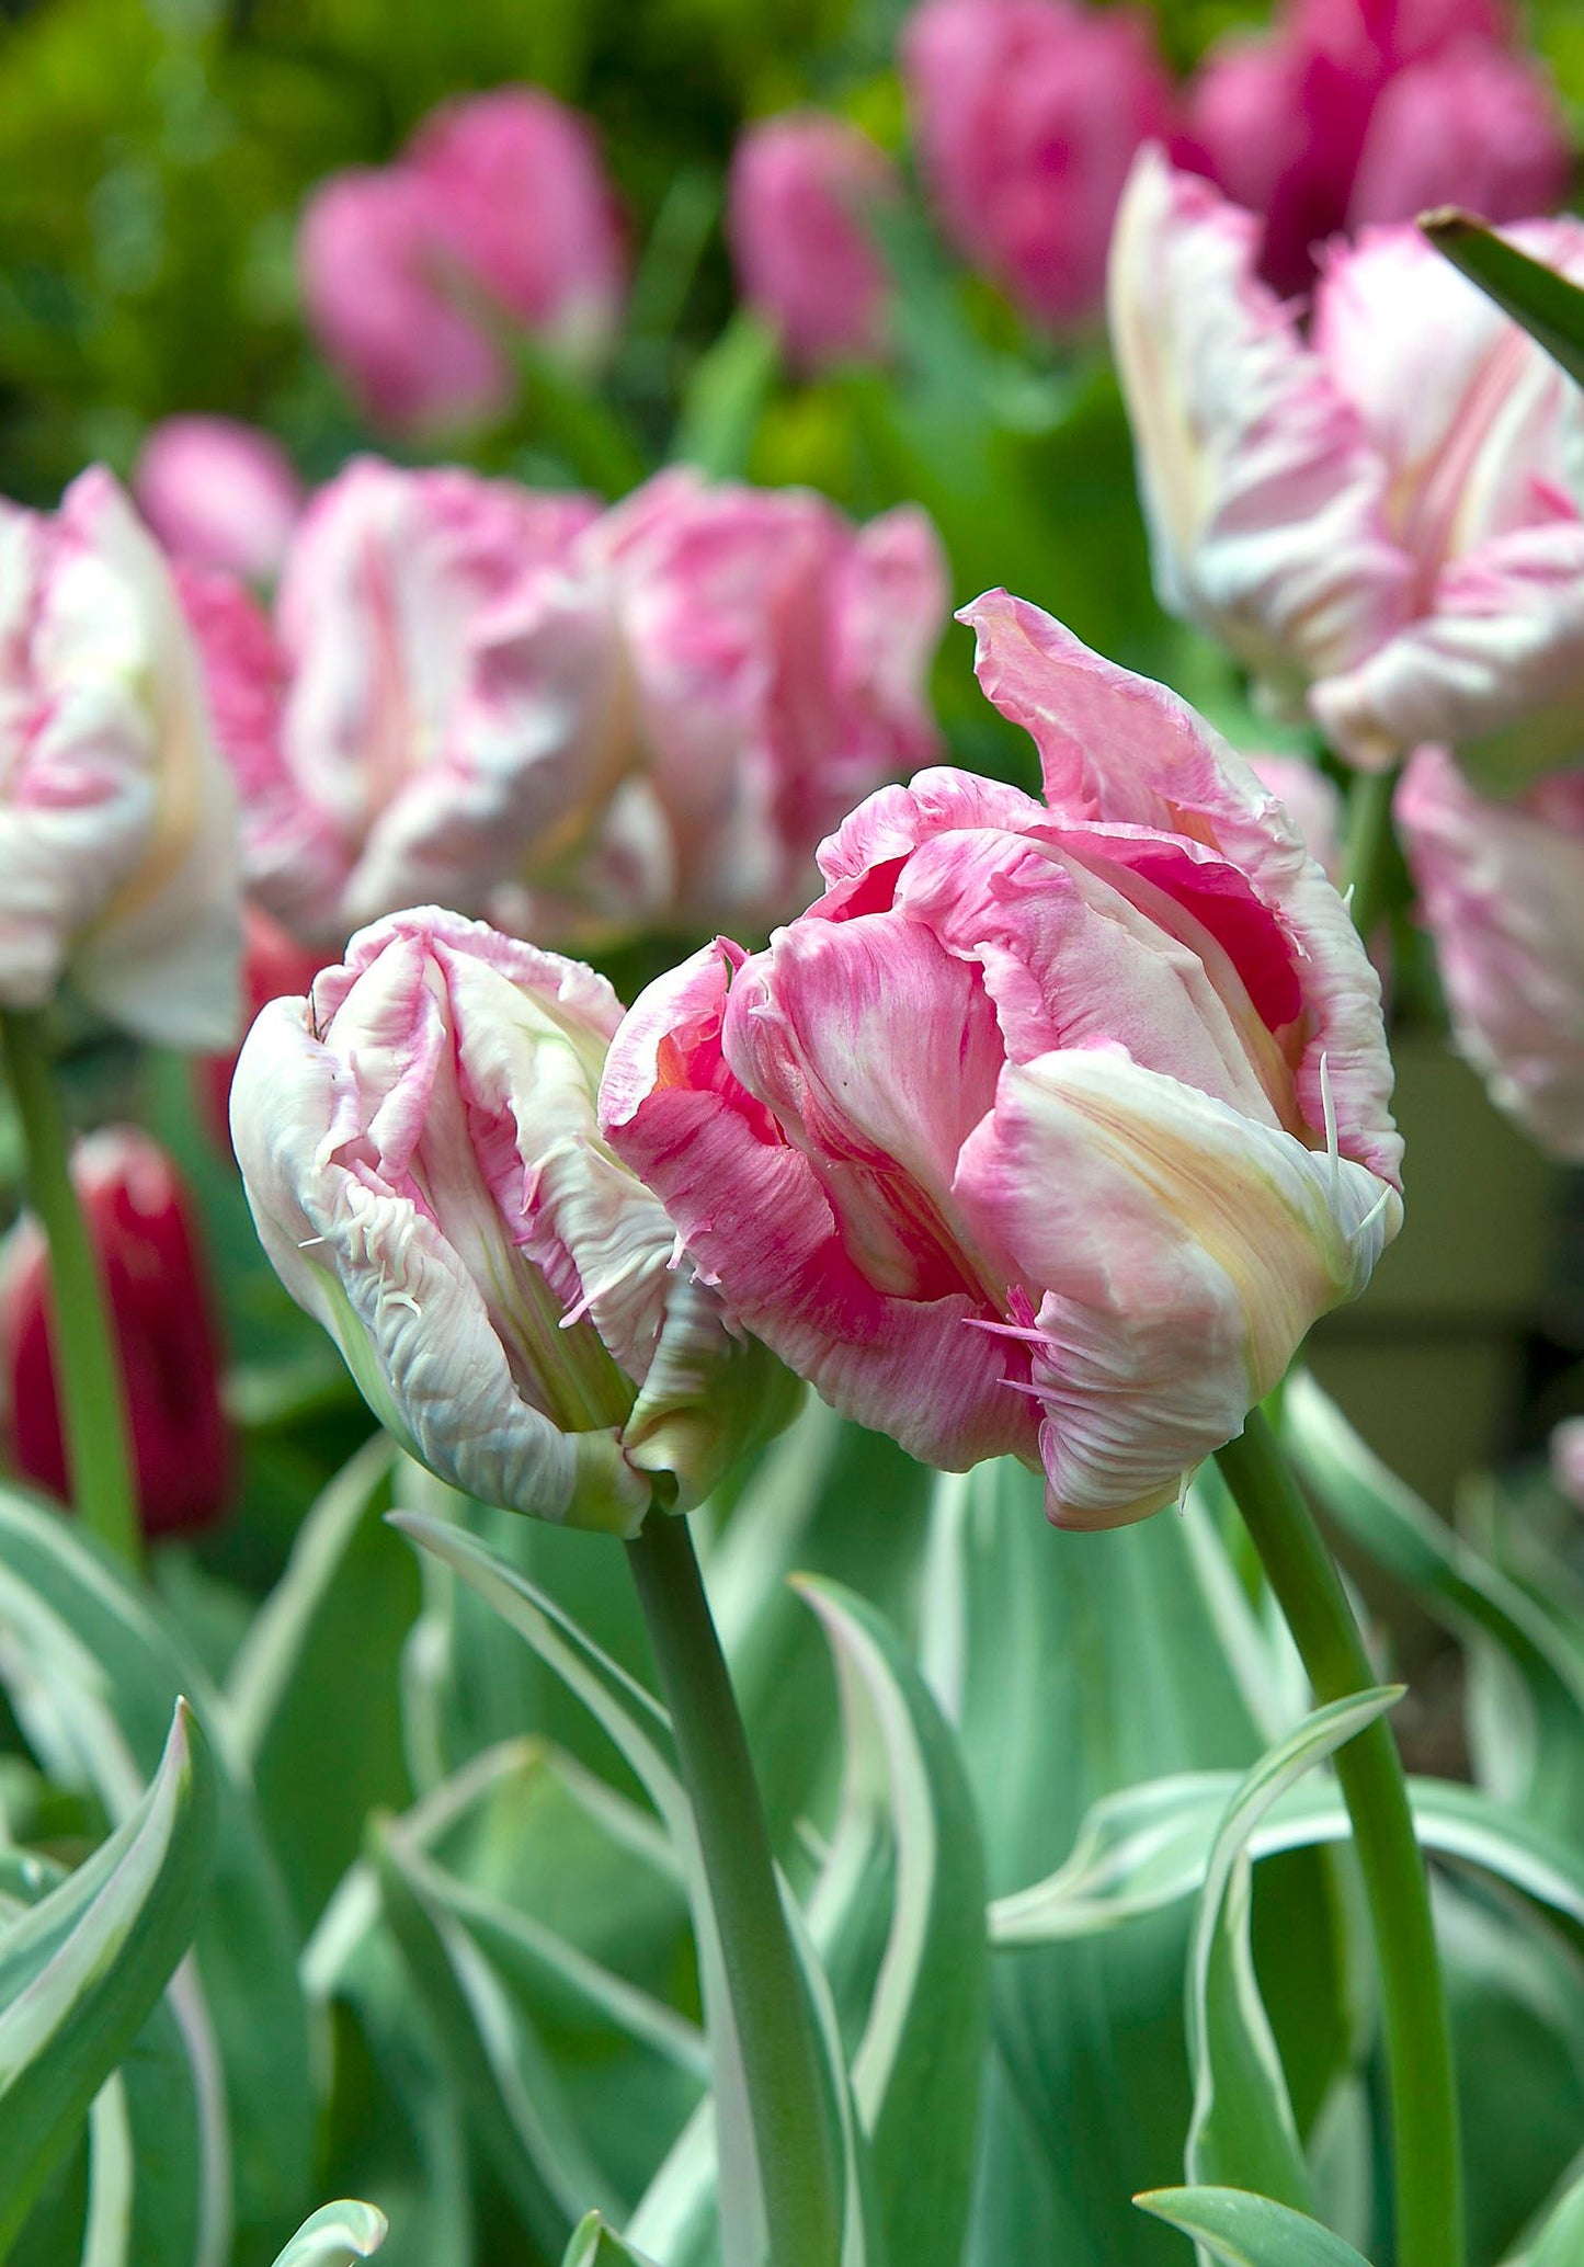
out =
[(709, 1882), (770, 2267), (836, 2267), (841, 2222), (814, 2015), (687, 1519), (650, 1512), (628, 1557)]

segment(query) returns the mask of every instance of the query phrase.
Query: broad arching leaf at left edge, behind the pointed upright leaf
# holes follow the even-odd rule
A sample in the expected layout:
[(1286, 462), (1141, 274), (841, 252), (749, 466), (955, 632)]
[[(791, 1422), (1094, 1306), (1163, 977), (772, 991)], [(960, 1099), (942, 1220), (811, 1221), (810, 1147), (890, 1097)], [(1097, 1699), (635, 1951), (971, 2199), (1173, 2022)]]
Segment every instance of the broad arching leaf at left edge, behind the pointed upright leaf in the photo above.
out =
[[(256, 2256), (299, 2208), (313, 2165), (308, 2015), (297, 1941), (252, 1789), (238, 1768), (224, 1709), (208, 1678), (159, 1610), (59, 1512), (0, 1487), (0, 1682), (27, 1743), (63, 1789), (88, 1791), (111, 1820), (127, 1818), (165, 1743), (181, 1693), (206, 1727), (215, 1768), (215, 1854), (195, 1931), (197, 1977), (181, 1968), (170, 2009), (188, 2079), (170, 2077), (165, 2106), (186, 2095), (190, 2124), (163, 2160), (190, 2183), (213, 2247), (213, 2215), (233, 2199), (240, 2256)], [(161, 2018), (163, 2020), (163, 2018)], [(138, 2136), (140, 2197), (152, 2197), (147, 2133), (159, 2088), (145, 2095), (138, 2054), (127, 2099)], [(143, 2204), (138, 2206), (143, 2210)]]

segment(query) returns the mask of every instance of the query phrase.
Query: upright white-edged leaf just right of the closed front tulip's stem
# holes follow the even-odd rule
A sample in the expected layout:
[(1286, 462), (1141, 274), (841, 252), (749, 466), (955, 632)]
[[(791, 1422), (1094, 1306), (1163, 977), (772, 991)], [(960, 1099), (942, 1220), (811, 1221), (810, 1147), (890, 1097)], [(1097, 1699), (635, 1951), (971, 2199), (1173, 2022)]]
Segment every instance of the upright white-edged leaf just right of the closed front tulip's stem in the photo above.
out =
[[(879, 1807), (893, 1850), (891, 1922), (852, 2056), (884, 2256), (956, 2267), (990, 1995), (974, 1800), (956, 1739), (888, 1623), (836, 1582), (802, 1578), (798, 1587), (836, 1659), (845, 1807)], [(922, 2156), (920, 2133), (931, 2136)]]

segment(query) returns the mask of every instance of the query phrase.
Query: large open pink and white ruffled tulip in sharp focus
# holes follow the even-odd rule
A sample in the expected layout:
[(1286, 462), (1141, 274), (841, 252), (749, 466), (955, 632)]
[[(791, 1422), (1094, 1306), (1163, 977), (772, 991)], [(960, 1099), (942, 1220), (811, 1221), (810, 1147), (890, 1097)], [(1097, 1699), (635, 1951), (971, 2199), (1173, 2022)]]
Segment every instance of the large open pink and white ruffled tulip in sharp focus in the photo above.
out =
[(639, 997), (601, 1122), (836, 1408), (1119, 1526), (1396, 1233), (1380, 988), (1192, 710), (1004, 592), (963, 619), (1045, 803), (959, 771), (872, 796), (766, 952)]

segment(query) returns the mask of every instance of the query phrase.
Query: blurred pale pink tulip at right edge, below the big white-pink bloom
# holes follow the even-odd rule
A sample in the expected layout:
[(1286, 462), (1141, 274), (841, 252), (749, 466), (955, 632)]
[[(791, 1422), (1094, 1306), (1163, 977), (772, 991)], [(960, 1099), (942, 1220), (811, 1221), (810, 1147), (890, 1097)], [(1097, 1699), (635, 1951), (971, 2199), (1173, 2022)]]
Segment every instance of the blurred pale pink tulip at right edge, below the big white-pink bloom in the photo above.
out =
[(1493, 803), (1421, 748), (1396, 825), (1464, 1054), (1543, 1149), (1584, 1158), (1584, 771)]

